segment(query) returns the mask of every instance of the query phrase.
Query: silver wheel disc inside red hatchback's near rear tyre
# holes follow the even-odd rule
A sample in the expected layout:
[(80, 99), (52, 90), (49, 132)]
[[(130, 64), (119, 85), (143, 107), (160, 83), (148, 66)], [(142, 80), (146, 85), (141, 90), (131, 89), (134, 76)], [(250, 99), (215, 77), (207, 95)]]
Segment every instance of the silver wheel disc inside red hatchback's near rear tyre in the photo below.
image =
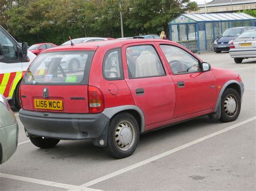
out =
[(115, 131), (114, 140), (117, 147), (122, 151), (129, 150), (134, 144), (134, 127), (128, 121), (120, 122)]

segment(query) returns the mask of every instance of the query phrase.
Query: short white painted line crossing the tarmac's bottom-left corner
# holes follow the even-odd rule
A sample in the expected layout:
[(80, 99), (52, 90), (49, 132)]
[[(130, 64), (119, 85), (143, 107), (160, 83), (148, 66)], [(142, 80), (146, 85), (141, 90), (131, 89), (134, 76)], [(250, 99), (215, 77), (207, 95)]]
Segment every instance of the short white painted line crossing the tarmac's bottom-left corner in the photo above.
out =
[(39, 180), (39, 179), (32, 179), (32, 178), (27, 178), (27, 177), (23, 177), (23, 176), (16, 176), (16, 175), (11, 175), (11, 174), (4, 174), (4, 173), (0, 173), (0, 177), (6, 178), (6, 179), (12, 179), (12, 180), (30, 182), (30, 183), (37, 183), (39, 185), (71, 189), (71, 190), (88, 190), (88, 191), (98, 190), (98, 189), (93, 189), (93, 188), (86, 188), (83, 186), (68, 185), (65, 183), (57, 183), (57, 182), (51, 182), (51, 181), (45, 181), (45, 180)]

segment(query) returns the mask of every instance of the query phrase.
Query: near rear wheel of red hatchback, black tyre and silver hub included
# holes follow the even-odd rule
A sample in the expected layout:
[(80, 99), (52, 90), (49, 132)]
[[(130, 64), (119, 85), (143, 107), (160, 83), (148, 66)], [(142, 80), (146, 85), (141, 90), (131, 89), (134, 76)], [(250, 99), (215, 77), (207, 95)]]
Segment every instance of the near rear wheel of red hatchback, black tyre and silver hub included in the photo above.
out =
[(138, 142), (139, 126), (131, 114), (123, 112), (111, 119), (105, 147), (111, 157), (129, 157), (136, 150)]

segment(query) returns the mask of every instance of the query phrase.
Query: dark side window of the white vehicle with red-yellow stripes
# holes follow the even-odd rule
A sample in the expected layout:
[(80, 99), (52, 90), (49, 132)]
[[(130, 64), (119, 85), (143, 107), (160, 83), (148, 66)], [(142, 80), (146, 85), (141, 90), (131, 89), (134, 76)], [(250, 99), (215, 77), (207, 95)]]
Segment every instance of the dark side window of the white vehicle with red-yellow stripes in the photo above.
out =
[(12, 43), (8, 36), (0, 31), (0, 58), (1, 60), (18, 59), (18, 50), (16, 44)]

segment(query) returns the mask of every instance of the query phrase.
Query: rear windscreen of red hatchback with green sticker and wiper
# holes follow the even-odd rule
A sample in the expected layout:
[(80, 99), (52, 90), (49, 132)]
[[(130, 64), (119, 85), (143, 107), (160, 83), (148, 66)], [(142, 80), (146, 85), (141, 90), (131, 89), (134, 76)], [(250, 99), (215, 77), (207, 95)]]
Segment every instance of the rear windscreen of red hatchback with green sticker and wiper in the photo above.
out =
[(31, 63), (24, 84), (87, 84), (95, 51), (43, 53)]

